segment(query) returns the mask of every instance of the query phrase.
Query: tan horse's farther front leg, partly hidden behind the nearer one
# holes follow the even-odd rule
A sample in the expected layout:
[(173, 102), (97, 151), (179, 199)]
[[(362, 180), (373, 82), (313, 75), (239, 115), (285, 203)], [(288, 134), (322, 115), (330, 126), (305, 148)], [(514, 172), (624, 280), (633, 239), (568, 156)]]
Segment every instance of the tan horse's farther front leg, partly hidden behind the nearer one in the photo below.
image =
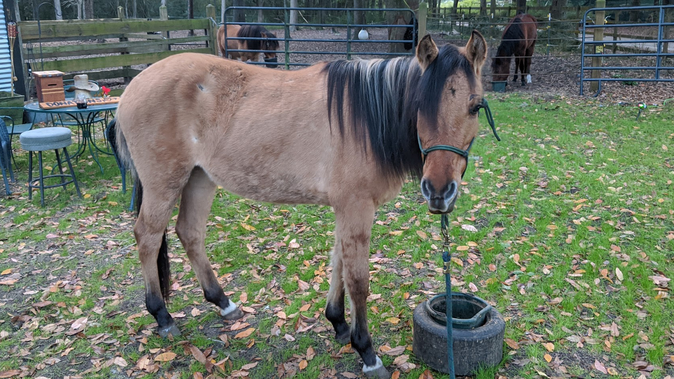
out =
[(332, 279), (326, 305), (326, 318), (332, 322), (335, 330), (335, 339), (338, 343), (346, 344), (350, 341), (350, 330), (344, 318), (344, 280), (342, 279), (342, 249), (340, 242), (335, 243), (332, 252)]

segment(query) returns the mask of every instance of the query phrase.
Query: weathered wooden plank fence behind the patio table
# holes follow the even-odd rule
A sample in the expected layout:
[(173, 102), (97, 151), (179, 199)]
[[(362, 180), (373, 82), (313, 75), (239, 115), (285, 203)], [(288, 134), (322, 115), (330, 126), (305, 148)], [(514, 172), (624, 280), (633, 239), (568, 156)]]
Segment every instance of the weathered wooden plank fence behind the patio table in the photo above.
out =
[[(124, 14), (123, 9), (119, 14)], [(160, 9), (160, 14), (166, 12)], [(207, 18), (193, 20), (48, 20), (39, 27), (34, 21), (19, 22), (26, 88), (30, 94), (29, 70), (63, 71), (65, 78), (76, 74), (87, 74), (90, 80), (125, 78), (127, 82), (141, 71), (134, 65), (185, 52), (217, 55), (215, 7), (208, 5), (206, 14)], [(204, 35), (172, 38), (171, 32), (178, 30), (204, 30)], [(171, 48), (178, 44), (181, 49)]]

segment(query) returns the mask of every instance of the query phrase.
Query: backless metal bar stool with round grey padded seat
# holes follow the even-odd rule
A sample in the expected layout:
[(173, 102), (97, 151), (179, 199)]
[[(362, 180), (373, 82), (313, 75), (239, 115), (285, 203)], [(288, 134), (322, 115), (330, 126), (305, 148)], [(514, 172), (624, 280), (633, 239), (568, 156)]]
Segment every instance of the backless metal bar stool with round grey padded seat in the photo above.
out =
[[(28, 151), (28, 200), (32, 199), (32, 189), (40, 189), (40, 205), (44, 206), (44, 189), (45, 188), (54, 188), (54, 187), (63, 187), (65, 190), (65, 185), (74, 183), (75, 190), (78, 192), (78, 196), (82, 198), (80, 193), (80, 186), (78, 185), (78, 179), (75, 178), (75, 171), (73, 170), (73, 165), (70, 163), (70, 156), (68, 155), (68, 150), (65, 148), (70, 146), (73, 143), (70, 129), (67, 127), (42, 127), (41, 129), (33, 129), (28, 132), (23, 132), (19, 137), (21, 141), (21, 147)], [(63, 149), (63, 154), (65, 155), (65, 161), (68, 163), (68, 169), (70, 170), (69, 175), (63, 173), (63, 167), (61, 167), (61, 157), (59, 156), (59, 150)], [(42, 174), (42, 152), (47, 150), (54, 150), (56, 152), (56, 162), (59, 165), (59, 174), (55, 175), (43, 175)], [(33, 152), (38, 153), (38, 164), (40, 170), (40, 178), (33, 179)], [(52, 177), (60, 177), (61, 183), (54, 185), (44, 185), (44, 179), (49, 179)], [(69, 181), (65, 181), (65, 178), (70, 178)]]

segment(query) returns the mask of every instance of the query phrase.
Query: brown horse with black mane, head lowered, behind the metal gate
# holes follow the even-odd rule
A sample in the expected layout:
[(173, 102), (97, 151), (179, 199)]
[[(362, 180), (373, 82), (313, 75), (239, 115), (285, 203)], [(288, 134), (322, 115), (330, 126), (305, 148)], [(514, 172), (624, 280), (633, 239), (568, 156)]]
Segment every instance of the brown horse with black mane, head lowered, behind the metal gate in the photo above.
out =
[[(278, 40), (276, 40), (276, 34), (270, 32), (264, 26), (259, 25), (227, 25), (227, 55), (225, 55), (225, 26), (220, 25), (218, 29), (218, 48), (220, 49), (220, 54), (225, 58), (231, 59), (241, 59), (241, 61), (253, 61), (257, 62), (259, 59), (259, 53), (255, 51), (230, 51), (230, 50), (266, 50), (264, 53), (264, 61), (276, 62), (276, 50), (278, 50)], [(264, 40), (236, 40), (229, 39), (233, 37), (241, 38), (267, 38)], [(269, 39), (274, 38), (274, 39)], [(267, 65), (267, 67), (275, 68), (276, 65)]]

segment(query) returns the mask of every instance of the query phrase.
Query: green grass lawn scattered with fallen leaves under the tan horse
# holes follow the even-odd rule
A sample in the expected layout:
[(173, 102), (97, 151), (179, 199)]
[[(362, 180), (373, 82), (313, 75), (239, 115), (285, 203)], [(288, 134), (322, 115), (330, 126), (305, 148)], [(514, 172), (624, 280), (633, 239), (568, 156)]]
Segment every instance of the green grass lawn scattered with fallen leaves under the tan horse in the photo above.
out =
[[(467, 184), (450, 216), (455, 290), (474, 285), (475, 295), (506, 320), (503, 363), (476, 378), (607, 377), (594, 368), (595, 360), (622, 377), (640, 375), (636, 361), (652, 366), (651, 378), (672, 375), (672, 285), (658, 287), (652, 278), (674, 276), (674, 110), (653, 109), (635, 121), (636, 109), (586, 99), (489, 100), (503, 140), (495, 142), (483, 127), (471, 151), (474, 167), (466, 171)], [(27, 156), (17, 158), (22, 182)], [(8, 333), (0, 339), (0, 351), (8, 352), (0, 372), (121, 378), (131, 370), (152, 378), (158, 370), (206, 377), (189, 343), (202, 352), (212, 349), (208, 358), (214, 362), (226, 359), (224, 372), (214, 368), (218, 376), (241, 374), (237, 370), (249, 363), (257, 363), (245, 370), (251, 378), (360, 373), (360, 359), (340, 353), (323, 316), (334, 241), (330, 208), (260, 204), (218, 192), (208, 255), (224, 290), (233, 299), (245, 293), (243, 305), (255, 310), (245, 320), (250, 325), (237, 330), (204, 301), (170, 228), (175, 290), (168, 308), (183, 336), (163, 340), (144, 312), (129, 194), (119, 190), (111, 157), (102, 157), (104, 173), (90, 163), (85, 158), (75, 168), (87, 195), (82, 200), (73, 190), (53, 189), (40, 208), (39, 196), (28, 202), (25, 187), (16, 185), (18, 194), (0, 202), (0, 272), (13, 270), (0, 281), (20, 274), (13, 285), (0, 285), (0, 330)], [(410, 181), (379, 209), (376, 221), (374, 299), (368, 303), (373, 341), (377, 348), (411, 345), (413, 308), (444, 289), (439, 217), (427, 213)], [(397, 231), (402, 233), (390, 233)], [(288, 246), (293, 240), (299, 247)], [(32, 306), (40, 301), (51, 303)], [(69, 335), (82, 317), (84, 331)], [(255, 331), (235, 338), (247, 328)], [(312, 359), (307, 349), (315, 351)], [(166, 352), (175, 358), (154, 361)], [(396, 357), (382, 359), (402, 378), (419, 378), (427, 366), (411, 351), (404, 354), (415, 368), (394, 365)], [(148, 364), (140, 367), (144, 359)]]

